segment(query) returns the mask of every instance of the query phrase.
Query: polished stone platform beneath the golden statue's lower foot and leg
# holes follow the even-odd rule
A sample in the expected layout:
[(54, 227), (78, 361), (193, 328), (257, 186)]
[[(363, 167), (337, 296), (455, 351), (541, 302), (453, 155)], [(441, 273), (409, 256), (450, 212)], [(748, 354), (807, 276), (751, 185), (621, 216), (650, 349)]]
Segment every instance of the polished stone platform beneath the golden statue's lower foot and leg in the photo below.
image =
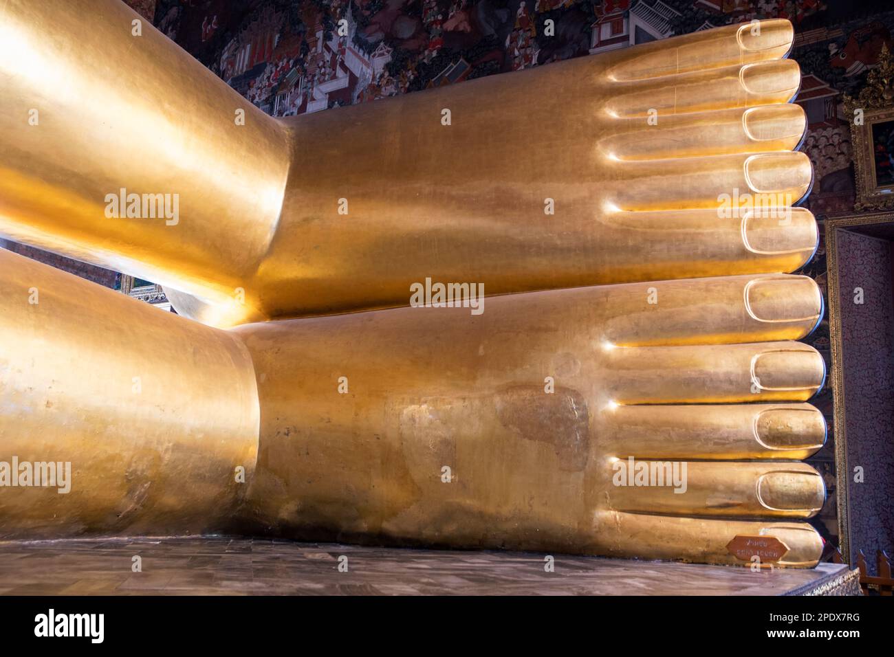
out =
[[(141, 572), (133, 572), (133, 557)], [(347, 572), (339, 570), (347, 557)], [(856, 570), (704, 566), (522, 552), (399, 550), (262, 539), (0, 543), (0, 594), (857, 594)]]

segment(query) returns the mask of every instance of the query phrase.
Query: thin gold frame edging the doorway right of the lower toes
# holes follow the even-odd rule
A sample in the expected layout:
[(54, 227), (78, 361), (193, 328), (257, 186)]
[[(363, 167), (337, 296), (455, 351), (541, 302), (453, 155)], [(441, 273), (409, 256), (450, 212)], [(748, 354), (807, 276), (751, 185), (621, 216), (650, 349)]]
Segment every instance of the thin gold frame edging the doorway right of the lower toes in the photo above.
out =
[(826, 232), (826, 284), (829, 298), (829, 338), (831, 344), (831, 385), (834, 409), (832, 411), (835, 431), (835, 479), (836, 503), (839, 517), (839, 547), (845, 562), (853, 564), (850, 553), (850, 508), (848, 506), (848, 436), (845, 425), (844, 378), (842, 371), (841, 315), (838, 275), (838, 230), (873, 223), (894, 223), (894, 212), (874, 215), (845, 215), (828, 218)]

